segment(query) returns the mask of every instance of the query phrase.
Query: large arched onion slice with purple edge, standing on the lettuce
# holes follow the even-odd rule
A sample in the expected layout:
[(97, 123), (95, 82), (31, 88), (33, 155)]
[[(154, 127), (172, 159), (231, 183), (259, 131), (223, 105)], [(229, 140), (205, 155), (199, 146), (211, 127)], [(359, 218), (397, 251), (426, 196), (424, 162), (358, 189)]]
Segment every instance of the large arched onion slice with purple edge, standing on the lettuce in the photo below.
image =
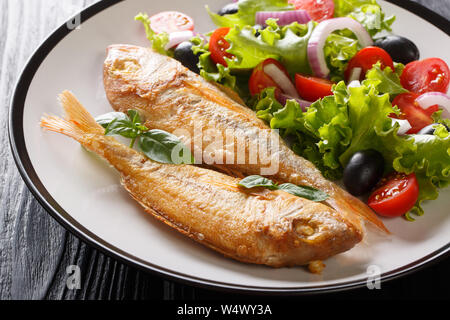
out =
[(362, 47), (371, 46), (373, 40), (366, 29), (356, 20), (348, 17), (324, 20), (314, 29), (308, 42), (308, 60), (314, 75), (326, 78), (330, 74), (323, 47), (330, 33), (350, 29)]

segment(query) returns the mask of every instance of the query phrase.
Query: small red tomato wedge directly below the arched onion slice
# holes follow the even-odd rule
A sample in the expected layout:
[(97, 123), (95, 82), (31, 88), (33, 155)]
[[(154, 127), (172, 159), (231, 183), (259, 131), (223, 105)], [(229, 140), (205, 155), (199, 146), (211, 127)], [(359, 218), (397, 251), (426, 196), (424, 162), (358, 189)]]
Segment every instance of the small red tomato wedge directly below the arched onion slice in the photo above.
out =
[(308, 77), (301, 74), (295, 75), (297, 91), (300, 97), (308, 101), (316, 101), (317, 99), (333, 95), (333, 92), (331, 92), (333, 84), (334, 82), (327, 79)]

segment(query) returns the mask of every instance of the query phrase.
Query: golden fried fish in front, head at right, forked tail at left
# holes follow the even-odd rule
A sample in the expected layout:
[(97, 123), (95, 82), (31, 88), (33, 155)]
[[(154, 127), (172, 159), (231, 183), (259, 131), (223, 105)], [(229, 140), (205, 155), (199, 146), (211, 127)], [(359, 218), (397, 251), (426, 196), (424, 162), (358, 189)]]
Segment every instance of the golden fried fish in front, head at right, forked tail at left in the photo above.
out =
[(106, 159), (130, 195), (150, 214), (225, 256), (271, 267), (303, 265), (352, 248), (360, 229), (332, 208), (284, 191), (243, 190), (236, 178), (149, 160), (112, 137), (69, 92), (66, 119), (41, 127), (67, 135)]

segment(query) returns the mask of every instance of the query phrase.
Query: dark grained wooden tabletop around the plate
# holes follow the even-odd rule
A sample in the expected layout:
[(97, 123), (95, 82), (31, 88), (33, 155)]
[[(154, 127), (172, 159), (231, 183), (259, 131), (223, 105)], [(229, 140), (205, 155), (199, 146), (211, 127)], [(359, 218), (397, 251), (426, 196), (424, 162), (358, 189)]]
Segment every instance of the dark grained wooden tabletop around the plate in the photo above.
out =
[[(450, 18), (449, 0), (416, 0)], [(43, 39), (94, 0), (0, 0), (0, 299), (250, 298), (182, 285), (109, 258), (68, 233), (33, 198), (11, 156), (7, 108), (16, 79)], [(66, 268), (81, 269), (81, 289), (66, 286)], [(442, 260), (412, 275), (338, 298), (449, 298)], [(315, 299), (323, 296), (313, 297)]]

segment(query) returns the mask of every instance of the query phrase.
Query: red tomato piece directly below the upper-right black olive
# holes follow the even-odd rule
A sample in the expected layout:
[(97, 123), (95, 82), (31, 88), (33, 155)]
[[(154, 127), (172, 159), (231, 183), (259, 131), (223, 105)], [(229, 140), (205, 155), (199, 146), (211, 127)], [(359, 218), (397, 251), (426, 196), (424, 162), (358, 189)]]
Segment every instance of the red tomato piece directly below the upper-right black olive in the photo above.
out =
[(349, 80), (350, 74), (354, 68), (361, 68), (359, 80), (364, 80), (366, 78), (366, 72), (378, 61), (381, 62), (381, 69), (391, 67), (391, 69), (394, 70), (394, 62), (389, 53), (384, 49), (378, 47), (365, 47), (359, 50), (348, 62), (347, 69), (345, 70), (345, 79)]

